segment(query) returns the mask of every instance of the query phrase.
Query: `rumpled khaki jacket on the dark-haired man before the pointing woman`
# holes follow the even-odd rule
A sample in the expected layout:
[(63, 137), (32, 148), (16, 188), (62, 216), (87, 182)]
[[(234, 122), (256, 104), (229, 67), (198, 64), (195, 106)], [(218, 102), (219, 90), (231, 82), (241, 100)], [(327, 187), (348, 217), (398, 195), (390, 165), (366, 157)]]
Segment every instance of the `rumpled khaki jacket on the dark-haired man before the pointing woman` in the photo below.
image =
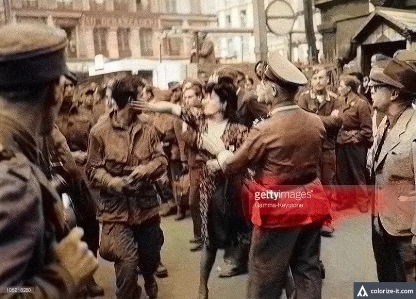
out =
[[(100, 189), (99, 220), (140, 224), (158, 213), (157, 193), (151, 181), (166, 170), (167, 159), (146, 116), (139, 115), (124, 126), (117, 122), (116, 113), (114, 109), (92, 128), (86, 172), (90, 183)], [(133, 194), (116, 194), (108, 189), (109, 180), (128, 176), (139, 165), (145, 166), (145, 176)]]

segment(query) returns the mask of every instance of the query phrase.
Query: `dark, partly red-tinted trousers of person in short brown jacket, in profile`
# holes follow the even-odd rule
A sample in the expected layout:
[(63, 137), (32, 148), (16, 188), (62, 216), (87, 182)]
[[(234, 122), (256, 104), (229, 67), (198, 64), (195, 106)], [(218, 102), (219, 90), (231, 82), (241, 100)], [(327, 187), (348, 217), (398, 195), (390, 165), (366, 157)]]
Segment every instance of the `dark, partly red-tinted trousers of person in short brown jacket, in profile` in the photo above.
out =
[(356, 203), (366, 209), (370, 197), (366, 184), (367, 148), (362, 145), (339, 144), (336, 157), (337, 187), (336, 206), (339, 209)]

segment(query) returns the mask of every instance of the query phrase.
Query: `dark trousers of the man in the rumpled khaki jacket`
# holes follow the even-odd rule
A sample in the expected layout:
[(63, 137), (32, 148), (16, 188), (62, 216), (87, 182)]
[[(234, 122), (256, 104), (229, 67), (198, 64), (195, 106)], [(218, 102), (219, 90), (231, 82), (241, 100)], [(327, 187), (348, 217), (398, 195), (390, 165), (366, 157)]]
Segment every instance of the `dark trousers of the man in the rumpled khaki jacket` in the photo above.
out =
[(146, 279), (160, 263), (164, 237), (158, 216), (139, 225), (104, 222), (102, 232), (111, 240), (117, 298), (137, 299), (137, 266)]

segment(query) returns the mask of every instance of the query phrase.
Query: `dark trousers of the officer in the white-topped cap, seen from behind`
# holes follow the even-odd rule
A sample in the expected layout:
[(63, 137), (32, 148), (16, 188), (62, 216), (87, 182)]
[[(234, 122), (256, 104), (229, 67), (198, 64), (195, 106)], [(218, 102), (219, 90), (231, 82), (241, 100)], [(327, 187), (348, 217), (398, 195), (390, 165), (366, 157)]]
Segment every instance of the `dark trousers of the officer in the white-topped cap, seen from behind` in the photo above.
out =
[(280, 298), (290, 267), (297, 299), (320, 299), (322, 291), (319, 228), (266, 230), (255, 227), (252, 235), (249, 299)]

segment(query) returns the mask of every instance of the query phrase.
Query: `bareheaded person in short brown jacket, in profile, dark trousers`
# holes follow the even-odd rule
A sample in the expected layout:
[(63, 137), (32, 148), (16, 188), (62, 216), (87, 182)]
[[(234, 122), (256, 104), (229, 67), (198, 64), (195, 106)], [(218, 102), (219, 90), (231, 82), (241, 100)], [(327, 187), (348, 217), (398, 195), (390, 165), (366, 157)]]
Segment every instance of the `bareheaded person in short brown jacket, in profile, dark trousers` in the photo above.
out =
[[(370, 107), (357, 93), (360, 81), (353, 76), (339, 77), (338, 93), (342, 103), (342, 126), (337, 136), (336, 176), (339, 186), (336, 210), (356, 204), (362, 213), (368, 212), (370, 197), (366, 185), (367, 150), (373, 133)], [(353, 186), (353, 187), (352, 187)]]

